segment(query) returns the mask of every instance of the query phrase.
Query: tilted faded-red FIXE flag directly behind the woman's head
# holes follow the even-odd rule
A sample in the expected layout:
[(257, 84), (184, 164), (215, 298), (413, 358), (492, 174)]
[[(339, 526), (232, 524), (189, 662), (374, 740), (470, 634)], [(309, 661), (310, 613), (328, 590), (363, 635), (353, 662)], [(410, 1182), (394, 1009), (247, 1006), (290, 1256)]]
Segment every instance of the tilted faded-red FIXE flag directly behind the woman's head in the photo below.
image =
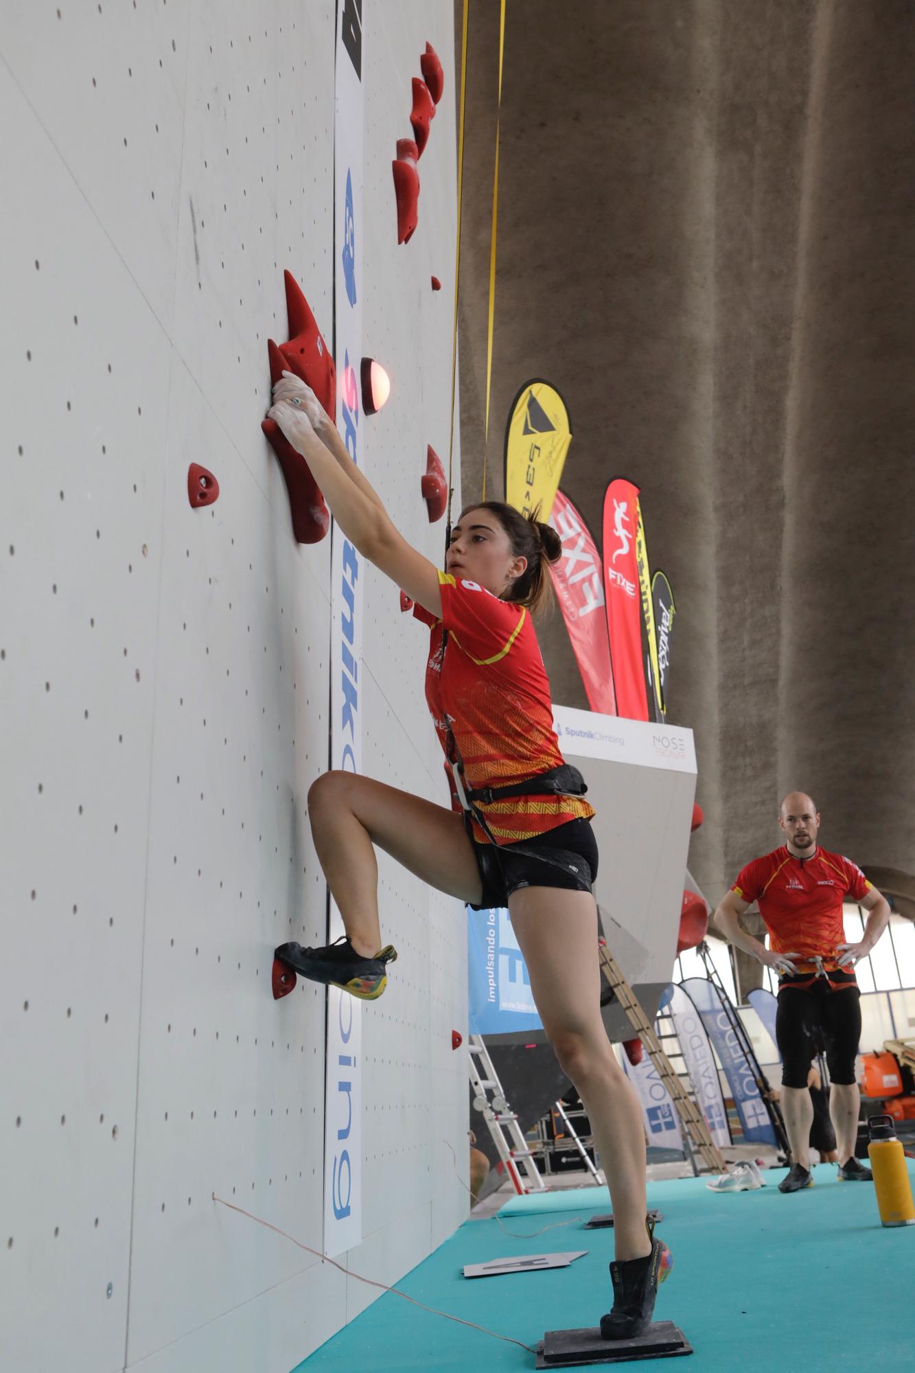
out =
[(550, 566), (550, 575), (588, 704), (605, 715), (615, 715), (600, 555), (591, 530), (565, 492), (556, 492), (550, 523), (562, 540), (562, 557)]

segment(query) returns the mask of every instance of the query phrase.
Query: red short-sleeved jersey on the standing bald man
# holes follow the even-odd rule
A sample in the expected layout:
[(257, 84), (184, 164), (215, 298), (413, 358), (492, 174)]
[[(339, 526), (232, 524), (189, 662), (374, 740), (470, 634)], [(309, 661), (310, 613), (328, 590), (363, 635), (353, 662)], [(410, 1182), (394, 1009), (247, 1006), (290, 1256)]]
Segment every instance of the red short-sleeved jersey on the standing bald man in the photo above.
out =
[(871, 890), (861, 869), (841, 854), (817, 849), (795, 858), (784, 844), (754, 858), (731, 887), (742, 901), (756, 901), (775, 953), (797, 953), (835, 962), (846, 943), (842, 902), (863, 901)]

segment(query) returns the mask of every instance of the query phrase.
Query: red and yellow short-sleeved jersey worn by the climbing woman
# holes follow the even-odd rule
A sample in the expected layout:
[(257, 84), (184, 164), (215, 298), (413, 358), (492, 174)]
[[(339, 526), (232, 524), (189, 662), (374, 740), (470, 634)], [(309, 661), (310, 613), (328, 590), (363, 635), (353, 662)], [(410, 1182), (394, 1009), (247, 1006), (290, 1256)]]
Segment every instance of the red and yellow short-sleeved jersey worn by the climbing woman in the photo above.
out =
[[(550, 681), (528, 610), (449, 573), (440, 571), (438, 582), (442, 618), (434, 619), (422, 605), (414, 615), (431, 629), (426, 700), (445, 758), (451, 729), (473, 789), (508, 787), (562, 766)], [(447, 772), (452, 810), (459, 811), (448, 766)], [(581, 796), (508, 796), (474, 805), (499, 844), (533, 839), (595, 813)], [(473, 825), (474, 838), (485, 842), (477, 821)]]

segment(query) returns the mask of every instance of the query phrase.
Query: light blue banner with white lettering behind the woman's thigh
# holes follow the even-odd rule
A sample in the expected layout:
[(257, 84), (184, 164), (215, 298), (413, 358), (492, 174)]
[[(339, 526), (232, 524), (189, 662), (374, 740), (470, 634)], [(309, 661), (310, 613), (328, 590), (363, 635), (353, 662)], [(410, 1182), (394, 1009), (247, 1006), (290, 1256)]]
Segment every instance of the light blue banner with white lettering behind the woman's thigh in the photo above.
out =
[(507, 910), (467, 908), (467, 982), (470, 1034), (543, 1028)]

